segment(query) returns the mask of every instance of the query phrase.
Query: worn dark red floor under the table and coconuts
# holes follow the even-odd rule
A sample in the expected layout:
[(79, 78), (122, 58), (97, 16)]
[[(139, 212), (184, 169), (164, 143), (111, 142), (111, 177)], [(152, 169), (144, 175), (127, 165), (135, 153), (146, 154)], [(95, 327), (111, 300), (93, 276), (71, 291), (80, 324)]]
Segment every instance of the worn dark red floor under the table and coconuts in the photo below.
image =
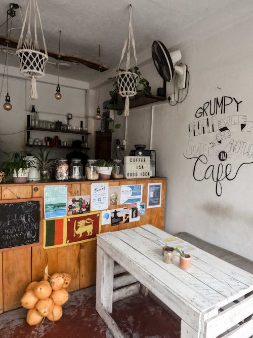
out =
[[(95, 287), (70, 293), (57, 322), (26, 323), (24, 308), (0, 315), (2, 338), (112, 338), (95, 309)], [(149, 297), (137, 295), (114, 304), (113, 319), (126, 338), (179, 338), (180, 323)], [(115, 337), (117, 338), (117, 337)]]

